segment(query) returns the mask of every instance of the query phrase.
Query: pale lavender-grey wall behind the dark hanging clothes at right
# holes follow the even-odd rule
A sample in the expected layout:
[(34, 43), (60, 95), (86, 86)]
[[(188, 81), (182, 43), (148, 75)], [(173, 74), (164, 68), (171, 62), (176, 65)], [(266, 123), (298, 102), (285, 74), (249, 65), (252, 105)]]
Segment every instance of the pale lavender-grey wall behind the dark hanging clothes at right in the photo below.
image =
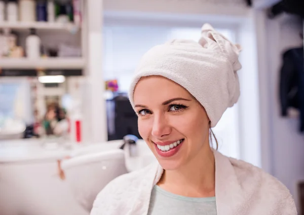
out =
[(267, 29), (271, 173), (289, 188), (297, 203), (296, 183), (304, 180), (304, 133), (298, 132), (298, 119), (280, 116), (279, 73), (282, 53), (303, 43), (299, 37), (302, 23), (300, 19), (283, 15), (268, 20)]

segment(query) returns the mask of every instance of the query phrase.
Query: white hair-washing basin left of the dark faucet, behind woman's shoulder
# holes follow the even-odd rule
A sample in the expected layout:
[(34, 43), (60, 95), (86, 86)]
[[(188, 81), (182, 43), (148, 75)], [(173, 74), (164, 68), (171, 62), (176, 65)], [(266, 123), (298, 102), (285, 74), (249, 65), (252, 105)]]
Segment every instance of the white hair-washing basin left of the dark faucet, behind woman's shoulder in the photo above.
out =
[(77, 156), (62, 162), (65, 182), (74, 198), (88, 212), (91, 211), (97, 194), (113, 178), (127, 173), (124, 151), (108, 150)]

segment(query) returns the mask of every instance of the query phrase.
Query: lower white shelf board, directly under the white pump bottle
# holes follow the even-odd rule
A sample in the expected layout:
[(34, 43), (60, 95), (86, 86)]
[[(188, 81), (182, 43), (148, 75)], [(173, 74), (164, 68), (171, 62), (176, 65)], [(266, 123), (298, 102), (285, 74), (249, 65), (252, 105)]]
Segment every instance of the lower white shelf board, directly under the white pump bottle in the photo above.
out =
[(3, 69), (83, 69), (84, 58), (41, 58), (31, 60), (26, 58), (2, 58), (0, 68)]

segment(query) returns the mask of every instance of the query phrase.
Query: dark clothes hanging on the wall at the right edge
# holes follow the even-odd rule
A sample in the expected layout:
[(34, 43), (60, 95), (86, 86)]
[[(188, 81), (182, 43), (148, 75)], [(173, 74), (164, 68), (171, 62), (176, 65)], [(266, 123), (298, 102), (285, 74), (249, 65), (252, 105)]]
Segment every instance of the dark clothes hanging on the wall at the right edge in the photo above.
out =
[(304, 131), (304, 50), (294, 48), (283, 54), (280, 77), (281, 115), (287, 116), (289, 107), (300, 112), (299, 130)]

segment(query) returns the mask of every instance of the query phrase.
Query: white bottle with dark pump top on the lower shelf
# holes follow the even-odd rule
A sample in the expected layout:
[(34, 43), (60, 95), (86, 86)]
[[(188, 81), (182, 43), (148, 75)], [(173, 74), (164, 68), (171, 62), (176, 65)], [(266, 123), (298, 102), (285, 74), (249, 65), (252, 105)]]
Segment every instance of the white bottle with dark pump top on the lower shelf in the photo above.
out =
[(30, 29), (30, 35), (25, 40), (26, 56), (30, 59), (40, 58), (41, 40), (34, 28)]

